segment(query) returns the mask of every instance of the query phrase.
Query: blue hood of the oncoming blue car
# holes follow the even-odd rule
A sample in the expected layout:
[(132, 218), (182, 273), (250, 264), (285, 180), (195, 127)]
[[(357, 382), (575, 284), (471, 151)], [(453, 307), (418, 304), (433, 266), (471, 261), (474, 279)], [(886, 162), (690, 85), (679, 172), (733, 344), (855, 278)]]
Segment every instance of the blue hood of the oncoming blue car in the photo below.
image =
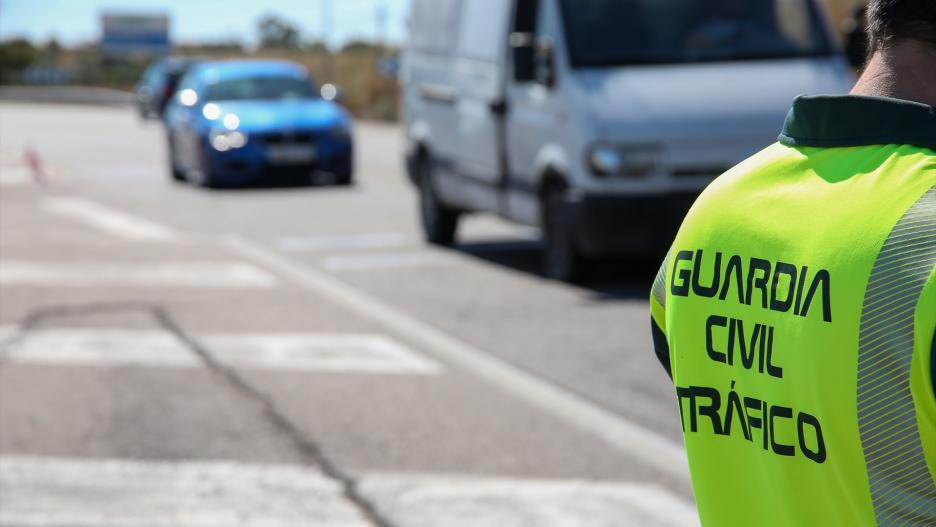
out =
[(345, 125), (348, 117), (337, 104), (323, 100), (302, 101), (230, 101), (216, 103), (222, 123), (234, 114), (239, 129), (246, 132), (279, 131), (283, 128), (308, 130)]

